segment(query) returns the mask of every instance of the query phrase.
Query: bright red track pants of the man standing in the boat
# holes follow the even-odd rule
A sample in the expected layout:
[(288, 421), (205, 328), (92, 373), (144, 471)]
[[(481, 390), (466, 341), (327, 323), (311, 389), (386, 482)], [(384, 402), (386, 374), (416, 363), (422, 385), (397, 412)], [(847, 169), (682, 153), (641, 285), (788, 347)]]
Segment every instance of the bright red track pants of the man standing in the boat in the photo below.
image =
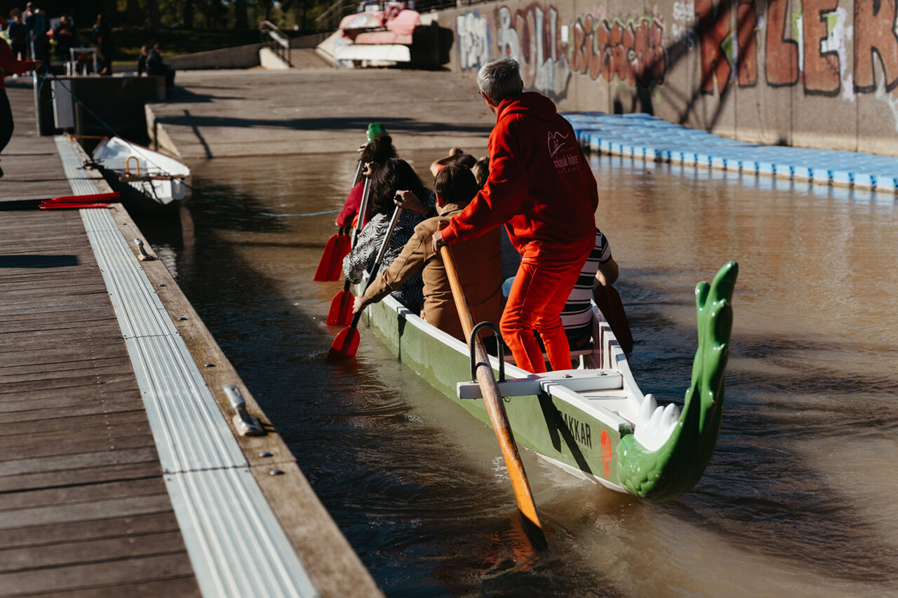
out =
[(582, 248), (557, 255), (544, 248), (524, 251), (499, 324), (518, 367), (533, 374), (546, 371), (540, 344), (533, 334), (536, 330), (552, 369), (570, 369), (570, 347), (560, 314), (594, 245), (595, 240), (590, 239)]

